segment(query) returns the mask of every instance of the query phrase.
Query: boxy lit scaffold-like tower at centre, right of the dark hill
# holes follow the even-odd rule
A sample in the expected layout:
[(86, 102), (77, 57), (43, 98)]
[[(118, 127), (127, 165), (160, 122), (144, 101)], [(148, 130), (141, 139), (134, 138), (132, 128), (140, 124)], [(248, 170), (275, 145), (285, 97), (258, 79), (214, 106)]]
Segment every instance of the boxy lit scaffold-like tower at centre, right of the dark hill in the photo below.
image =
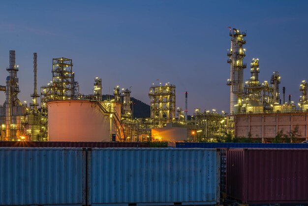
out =
[(152, 127), (164, 127), (175, 120), (176, 86), (170, 83), (150, 87)]

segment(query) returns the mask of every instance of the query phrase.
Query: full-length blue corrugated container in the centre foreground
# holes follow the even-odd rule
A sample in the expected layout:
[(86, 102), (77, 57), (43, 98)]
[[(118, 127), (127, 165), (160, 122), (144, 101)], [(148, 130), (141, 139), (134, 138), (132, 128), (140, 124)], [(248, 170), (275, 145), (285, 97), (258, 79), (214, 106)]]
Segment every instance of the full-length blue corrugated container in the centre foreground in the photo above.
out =
[(219, 155), (216, 149), (92, 149), (89, 205), (216, 205)]

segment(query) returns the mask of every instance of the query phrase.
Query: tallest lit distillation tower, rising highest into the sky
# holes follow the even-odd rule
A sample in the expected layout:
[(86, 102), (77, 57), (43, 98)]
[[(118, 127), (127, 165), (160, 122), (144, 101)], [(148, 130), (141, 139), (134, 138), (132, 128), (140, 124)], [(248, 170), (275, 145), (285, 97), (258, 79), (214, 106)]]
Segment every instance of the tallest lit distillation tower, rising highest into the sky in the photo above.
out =
[(243, 59), (246, 54), (243, 45), (246, 44), (244, 39), (246, 32), (233, 28), (229, 35), (231, 36), (231, 47), (227, 54), (229, 57), (227, 63), (230, 64), (230, 79), (227, 85), (230, 86), (230, 114), (234, 114), (241, 111), (244, 95), (243, 73), (246, 64), (243, 64)]

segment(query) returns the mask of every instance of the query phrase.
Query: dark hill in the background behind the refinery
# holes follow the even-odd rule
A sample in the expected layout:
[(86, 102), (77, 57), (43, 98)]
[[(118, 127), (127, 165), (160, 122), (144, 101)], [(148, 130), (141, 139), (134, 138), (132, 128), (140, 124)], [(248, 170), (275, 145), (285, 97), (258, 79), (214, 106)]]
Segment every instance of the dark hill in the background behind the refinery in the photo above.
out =
[[(103, 100), (113, 99), (113, 95), (103, 95)], [(134, 118), (148, 118), (151, 116), (151, 106), (141, 102), (140, 100), (137, 100), (133, 97), (130, 98), (130, 101), (133, 103), (130, 108), (134, 110)], [(134, 108), (132, 108), (132, 106)]]

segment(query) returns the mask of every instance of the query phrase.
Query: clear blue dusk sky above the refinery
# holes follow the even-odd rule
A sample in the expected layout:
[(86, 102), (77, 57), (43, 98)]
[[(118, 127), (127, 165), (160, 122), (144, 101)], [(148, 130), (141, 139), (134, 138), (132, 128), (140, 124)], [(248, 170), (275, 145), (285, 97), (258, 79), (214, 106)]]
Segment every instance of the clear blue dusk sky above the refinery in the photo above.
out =
[[(259, 80), (279, 71), (281, 99), (285, 86), (298, 103), (308, 80), (306, 0), (1, 0), (0, 85), (15, 50), (19, 99), (30, 103), (37, 52), (38, 87), (52, 80), (52, 59), (66, 57), (82, 94), (92, 94), (99, 76), (103, 94), (131, 87), (132, 97), (149, 104), (159, 79), (176, 85), (177, 107), (184, 108), (188, 91), (188, 114), (196, 107), (228, 111), (228, 27), (247, 32), (244, 62), (259, 58)], [(248, 67), (244, 73), (246, 80)]]

